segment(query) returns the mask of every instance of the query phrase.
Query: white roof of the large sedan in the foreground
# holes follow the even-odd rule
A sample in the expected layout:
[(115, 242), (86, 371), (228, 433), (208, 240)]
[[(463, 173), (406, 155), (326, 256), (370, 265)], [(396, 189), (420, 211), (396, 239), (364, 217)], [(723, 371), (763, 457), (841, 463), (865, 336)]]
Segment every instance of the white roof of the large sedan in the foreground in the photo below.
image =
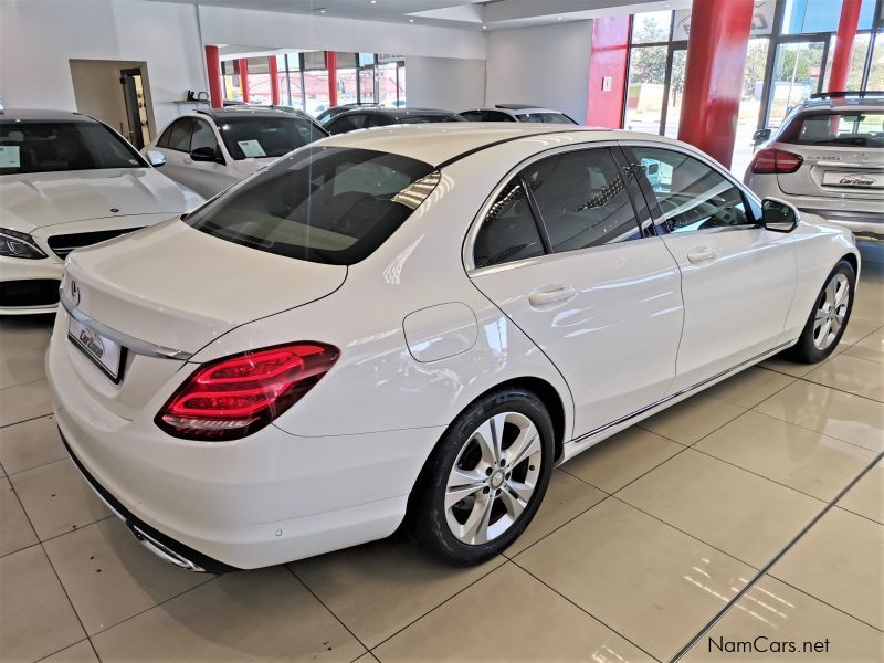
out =
[[(558, 138), (558, 139), (556, 139)], [(501, 143), (519, 139), (539, 139), (545, 147), (559, 143), (591, 143), (602, 140), (641, 139), (655, 143), (684, 145), (663, 136), (636, 131), (612, 131), (573, 125), (478, 123), (393, 125), (372, 129), (358, 129), (338, 134), (319, 143), (314, 148), (349, 147), (391, 152), (441, 166), (469, 154)]]

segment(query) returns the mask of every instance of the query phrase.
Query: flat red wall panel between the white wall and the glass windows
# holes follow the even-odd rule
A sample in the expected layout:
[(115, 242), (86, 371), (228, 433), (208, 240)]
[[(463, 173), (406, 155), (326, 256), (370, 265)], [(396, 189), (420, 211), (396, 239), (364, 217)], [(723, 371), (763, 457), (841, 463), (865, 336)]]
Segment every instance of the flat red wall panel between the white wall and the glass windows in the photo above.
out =
[[(629, 17), (593, 19), (587, 124), (619, 129), (629, 60)], [(607, 88), (607, 90), (606, 90)]]

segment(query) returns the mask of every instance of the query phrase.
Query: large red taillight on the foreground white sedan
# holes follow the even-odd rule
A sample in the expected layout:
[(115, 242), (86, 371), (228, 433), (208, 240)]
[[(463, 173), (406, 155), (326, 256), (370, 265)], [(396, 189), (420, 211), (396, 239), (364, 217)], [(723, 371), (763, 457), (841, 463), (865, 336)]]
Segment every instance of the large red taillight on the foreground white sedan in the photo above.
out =
[(296, 403), (339, 355), (334, 346), (305, 341), (206, 364), (169, 399), (157, 425), (191, 440), (243, 438)]

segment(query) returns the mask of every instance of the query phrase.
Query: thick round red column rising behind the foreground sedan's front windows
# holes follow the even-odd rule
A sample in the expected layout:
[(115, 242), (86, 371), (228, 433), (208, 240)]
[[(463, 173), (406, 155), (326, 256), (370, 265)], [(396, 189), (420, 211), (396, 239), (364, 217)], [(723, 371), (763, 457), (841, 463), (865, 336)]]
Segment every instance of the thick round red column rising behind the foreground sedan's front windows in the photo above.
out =
[(754, 0), (694, 0), (678, 138), (730, 167)]

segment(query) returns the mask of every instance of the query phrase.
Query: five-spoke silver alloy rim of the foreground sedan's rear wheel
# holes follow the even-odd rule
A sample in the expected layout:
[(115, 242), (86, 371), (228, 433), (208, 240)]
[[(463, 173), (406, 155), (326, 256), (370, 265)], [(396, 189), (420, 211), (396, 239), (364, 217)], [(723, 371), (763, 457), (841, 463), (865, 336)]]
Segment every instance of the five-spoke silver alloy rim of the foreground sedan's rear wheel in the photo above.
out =
[(537, 488), (543, 444), (534, 422), (503, 412), (480, 425), (454, 461), (445, 488), (445, 519), (467, 545), (492, 541), (509, 529)]

